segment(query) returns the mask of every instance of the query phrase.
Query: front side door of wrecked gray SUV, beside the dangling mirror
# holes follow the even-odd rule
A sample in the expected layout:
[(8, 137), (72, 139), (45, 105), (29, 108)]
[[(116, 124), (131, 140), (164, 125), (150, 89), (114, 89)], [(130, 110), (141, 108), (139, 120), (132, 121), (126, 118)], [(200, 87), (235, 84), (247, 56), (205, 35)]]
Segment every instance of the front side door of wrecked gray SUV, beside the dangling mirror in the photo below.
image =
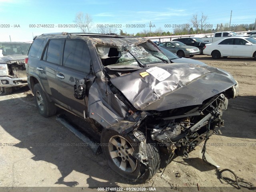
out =
[(58, 100), (62, 107), (84, 116), (85, 100), (74, 97), (76, 81), (88, 77), (90, 73), (91, 57), (88, 46), (83, 40), (66, 39), (63, 52), (62, 66), (57, 70), (57, 84), (59, 86)]

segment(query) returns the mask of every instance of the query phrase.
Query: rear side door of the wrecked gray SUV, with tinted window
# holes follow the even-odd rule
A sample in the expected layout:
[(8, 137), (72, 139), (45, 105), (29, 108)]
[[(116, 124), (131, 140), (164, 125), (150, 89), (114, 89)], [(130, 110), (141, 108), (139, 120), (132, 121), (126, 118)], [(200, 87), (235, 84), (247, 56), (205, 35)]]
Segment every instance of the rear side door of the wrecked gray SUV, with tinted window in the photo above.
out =
[(64, 39), (50, 39), (46, 44), (44, 54), (36, 67), (46, 92), (54, 101), (58, 98), (56, 72), (62, 60), (61, 55), (63, 46)]

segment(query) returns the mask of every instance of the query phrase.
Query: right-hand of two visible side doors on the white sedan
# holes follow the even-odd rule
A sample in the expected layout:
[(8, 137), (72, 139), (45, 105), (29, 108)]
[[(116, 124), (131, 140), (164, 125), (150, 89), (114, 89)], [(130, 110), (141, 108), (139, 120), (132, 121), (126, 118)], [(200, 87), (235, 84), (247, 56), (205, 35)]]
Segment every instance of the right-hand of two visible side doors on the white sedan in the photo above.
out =
[(252, 56), (252, 46), (245, 45), (248, 43), (246, 40), (242, 38), (234, 38), (234, 50), (233, 56), (240, 56), (240, 57), (250, 57)]

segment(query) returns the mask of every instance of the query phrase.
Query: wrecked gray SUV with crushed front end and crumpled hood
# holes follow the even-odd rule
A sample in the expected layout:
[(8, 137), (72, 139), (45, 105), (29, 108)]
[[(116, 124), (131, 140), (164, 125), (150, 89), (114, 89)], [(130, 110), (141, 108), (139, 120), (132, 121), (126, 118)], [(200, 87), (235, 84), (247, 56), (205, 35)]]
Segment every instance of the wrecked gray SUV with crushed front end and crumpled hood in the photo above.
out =
[(188, 156), (223, 125), (238, 83), (224, 70), (174, 64), (148, 39), (111, 34), (42, 34), (26, 64), (44, 117), (56, 106), (93, 123), (109, 166), (146, 182), (160, 150)]

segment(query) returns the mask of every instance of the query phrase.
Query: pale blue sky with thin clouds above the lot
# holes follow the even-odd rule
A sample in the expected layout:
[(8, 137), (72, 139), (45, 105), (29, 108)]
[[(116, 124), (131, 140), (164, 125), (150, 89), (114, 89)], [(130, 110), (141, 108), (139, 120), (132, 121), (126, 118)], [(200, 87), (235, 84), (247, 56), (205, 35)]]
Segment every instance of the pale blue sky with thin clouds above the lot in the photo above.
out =
[(193, 14), (202, 12), (215, 29), (217, 24), (229, 24), (231, 10), (231, 26), (255, 22), (255, 0), (0, 0), (0, 41), (26, 42), (43, 33), (81, 32), (76, 27), (61, 27), (74, 26), (78, 12), (91, 16), (92, 32), (97, 25), (115, 24), (118, 34), (119, 29), (136, 34), (149, 30), (150, 22), (152, 32), (159, 28), (173, 32), (175, 25), (190, 23)]

